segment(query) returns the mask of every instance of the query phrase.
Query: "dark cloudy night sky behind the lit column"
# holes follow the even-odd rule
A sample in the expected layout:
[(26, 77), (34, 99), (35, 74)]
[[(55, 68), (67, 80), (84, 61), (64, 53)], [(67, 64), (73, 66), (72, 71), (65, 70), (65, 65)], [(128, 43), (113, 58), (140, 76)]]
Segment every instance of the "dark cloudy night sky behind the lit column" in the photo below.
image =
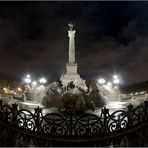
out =
[(68, 23), (85, 79), (148, 80), (148, 2), (0, 2), (0, 75), (57, 80), (66, 72)]

